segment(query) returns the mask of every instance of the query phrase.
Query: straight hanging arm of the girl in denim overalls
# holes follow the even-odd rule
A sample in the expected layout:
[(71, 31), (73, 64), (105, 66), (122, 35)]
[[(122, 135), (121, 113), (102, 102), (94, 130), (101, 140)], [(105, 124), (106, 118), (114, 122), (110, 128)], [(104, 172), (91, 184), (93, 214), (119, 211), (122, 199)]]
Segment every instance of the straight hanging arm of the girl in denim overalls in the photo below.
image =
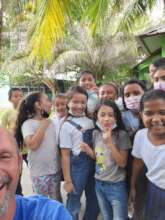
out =
[(66, 148), (61, 149), (61, 155), (62, 155), (62, 171), (65, 180), (64, 188), (66, 192), (70, 193), (74, 191), (74, 186), (70, 175), (70, 149), (66, 149)]

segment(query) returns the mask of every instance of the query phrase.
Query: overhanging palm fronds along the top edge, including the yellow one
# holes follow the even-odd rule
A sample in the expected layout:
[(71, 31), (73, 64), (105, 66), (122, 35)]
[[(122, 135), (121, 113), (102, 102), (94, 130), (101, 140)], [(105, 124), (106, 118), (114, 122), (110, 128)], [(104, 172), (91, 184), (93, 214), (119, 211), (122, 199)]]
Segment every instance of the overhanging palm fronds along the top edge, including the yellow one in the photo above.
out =
[[(31, 40), (32, 58), (39, 62), (53, 58), (55, 44), (64, 37), (69, 22), (83, 22), (92, 35), (109, 23), (116, 30), (130, 31), (135, 21), (146, 15), (157, 0), (38, 0)], [(115, 20), (118, 22), (115, 22)], [(110, 26), (109, 25), (109, 26)], [(34, 27), (34, 26), (33, 26)]]

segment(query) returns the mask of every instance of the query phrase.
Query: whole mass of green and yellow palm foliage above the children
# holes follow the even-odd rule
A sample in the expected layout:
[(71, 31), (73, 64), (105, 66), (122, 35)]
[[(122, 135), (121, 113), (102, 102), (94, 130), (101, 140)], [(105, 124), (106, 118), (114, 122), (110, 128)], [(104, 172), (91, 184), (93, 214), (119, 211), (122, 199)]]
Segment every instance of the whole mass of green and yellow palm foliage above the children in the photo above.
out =
[[(134, 33), (151, 27), (157, 0), (0, 0), (0, 77), (12, 85), (57, 83), (44, 75), (91, 69), (121, 83), (144, 54)], [(1, 79), (1, 78), (0, 78)]]

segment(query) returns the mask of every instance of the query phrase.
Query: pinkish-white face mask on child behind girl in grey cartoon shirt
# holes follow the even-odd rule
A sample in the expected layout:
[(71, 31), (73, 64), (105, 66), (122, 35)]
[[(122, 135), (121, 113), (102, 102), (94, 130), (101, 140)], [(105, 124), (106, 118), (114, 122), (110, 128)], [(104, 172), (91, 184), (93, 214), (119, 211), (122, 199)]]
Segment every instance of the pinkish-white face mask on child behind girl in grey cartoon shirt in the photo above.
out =
[(139, 110), (141, 95), (125, 98), (126, 107), (130, 110)]

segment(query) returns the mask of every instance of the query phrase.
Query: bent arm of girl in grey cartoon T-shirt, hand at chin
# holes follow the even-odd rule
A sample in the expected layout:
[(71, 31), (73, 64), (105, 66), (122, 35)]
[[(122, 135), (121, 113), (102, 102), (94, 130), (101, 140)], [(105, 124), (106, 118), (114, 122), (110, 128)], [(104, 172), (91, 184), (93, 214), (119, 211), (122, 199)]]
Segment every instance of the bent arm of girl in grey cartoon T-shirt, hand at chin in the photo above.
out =
[(125, 167), (127, 164), (128, 150), (120, 150), (112, 142), (112, 129), (103, 133), (103, 140), (105, 144), (111, 149), (112, 157), (120, 167)]

